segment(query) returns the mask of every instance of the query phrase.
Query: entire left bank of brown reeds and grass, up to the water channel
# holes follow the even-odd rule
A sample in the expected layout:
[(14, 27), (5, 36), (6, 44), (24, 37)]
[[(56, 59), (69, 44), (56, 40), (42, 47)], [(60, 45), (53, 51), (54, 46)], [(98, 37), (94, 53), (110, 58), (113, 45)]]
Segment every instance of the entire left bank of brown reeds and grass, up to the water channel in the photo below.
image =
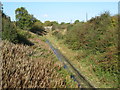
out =
[(31, 39), (34, 46), (24, 46), (3, 41), (2, 45), (2, 87), (3, 88), (76, 88), (69, 75), (63, 77), (62, 64), (47, 44), (40, 39)]

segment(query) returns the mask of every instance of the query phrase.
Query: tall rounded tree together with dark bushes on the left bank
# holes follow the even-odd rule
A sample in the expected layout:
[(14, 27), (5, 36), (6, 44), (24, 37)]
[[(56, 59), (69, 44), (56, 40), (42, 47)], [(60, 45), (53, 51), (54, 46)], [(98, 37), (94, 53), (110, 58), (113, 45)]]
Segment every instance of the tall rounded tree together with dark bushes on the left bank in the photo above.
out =
[[(3, 10), (0, 10), (0, 12), (2, 13), (1, 37), (3, 40), (31, 45), (31, 42), (27, 40), (30, 37), (27, 31), (31, 31), (38, 35), (46, 33), (43, 23), (29, 14), (24, 7), (15, 10), (16, 21), (11, 21), (11, 18), (7, 16)], [(26, 31), (26, 33), (21, 32), (22, 30)]]

